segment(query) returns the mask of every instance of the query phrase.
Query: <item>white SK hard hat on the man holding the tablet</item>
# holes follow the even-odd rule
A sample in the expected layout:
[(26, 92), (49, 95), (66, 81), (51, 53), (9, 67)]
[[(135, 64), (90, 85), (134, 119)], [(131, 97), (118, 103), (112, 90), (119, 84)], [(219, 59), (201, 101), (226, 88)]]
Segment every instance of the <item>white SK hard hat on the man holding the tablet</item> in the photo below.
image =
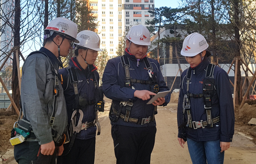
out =
[(134, 25), (128, 31), (126, 38), (136, 45), (149, 46), (150, 43), (150, 33), (147, 27), (144, 25)]

